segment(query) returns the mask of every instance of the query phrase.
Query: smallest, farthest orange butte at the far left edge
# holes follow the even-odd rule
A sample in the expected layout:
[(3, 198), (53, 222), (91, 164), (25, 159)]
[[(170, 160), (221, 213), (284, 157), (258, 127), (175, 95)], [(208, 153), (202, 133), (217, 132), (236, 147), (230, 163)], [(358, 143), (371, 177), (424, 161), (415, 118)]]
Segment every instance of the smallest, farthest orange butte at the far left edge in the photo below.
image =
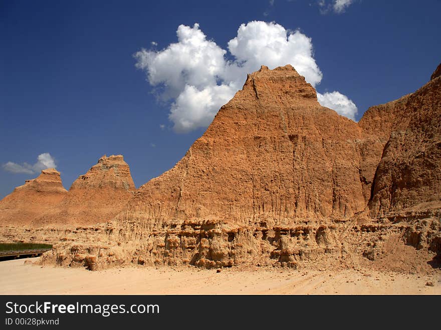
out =
[(0, 224), (29, 224), (51, 211), (67, 195), (60, 172), (53, 168), (42, 170), (33, 179), (0, 201)]

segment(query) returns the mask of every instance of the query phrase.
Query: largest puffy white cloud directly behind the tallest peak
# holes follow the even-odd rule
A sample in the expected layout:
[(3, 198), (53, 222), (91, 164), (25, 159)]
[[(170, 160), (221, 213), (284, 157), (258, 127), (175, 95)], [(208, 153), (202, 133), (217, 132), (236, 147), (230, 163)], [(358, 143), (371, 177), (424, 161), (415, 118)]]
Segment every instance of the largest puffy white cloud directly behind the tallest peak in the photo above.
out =
[[(162, 100), (171, 101), (168, 118), (179, 133), (207, 127), (242, 88), (247, 74), (262, 65), (274, 69), (291, 64), (314, 87), (322, 80), (311, 38), (274, 22), (242, 24), (228, 42), (228, 50), (208, 40), (198, 24), (180, 25), (176, 34), (177, 43), (158, 51), (142, 49), (134, 57), (136, 67), (145, 71)], [(350, 113), (338, 105), (338, 109), (327, 106)]]

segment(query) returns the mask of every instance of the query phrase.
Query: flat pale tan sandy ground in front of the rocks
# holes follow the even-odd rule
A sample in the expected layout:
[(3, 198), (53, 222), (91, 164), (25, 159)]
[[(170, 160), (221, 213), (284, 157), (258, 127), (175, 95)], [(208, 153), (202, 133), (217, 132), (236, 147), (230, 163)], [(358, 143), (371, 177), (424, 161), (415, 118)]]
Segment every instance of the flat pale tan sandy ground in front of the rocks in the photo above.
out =
[[(0, 294), (441, 294), (441, 271), (216, 270), (126, 267), (102, 271), (0, 262)], [(427, 282), (434, 286), (426, 285)]]

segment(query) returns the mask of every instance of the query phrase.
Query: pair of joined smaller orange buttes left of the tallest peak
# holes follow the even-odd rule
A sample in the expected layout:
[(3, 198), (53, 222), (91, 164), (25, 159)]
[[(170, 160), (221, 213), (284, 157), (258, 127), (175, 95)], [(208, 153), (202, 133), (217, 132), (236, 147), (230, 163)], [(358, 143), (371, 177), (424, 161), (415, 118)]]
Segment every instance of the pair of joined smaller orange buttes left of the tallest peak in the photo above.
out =
[(129, 166), (121, 155), (101, 157), (75, 180), (69, 192), (62, 186), (60, 173), (47, 169), (0, 201), (0, 224), (3, 229), (8, 225), (35, 229), (106, 222), (122, 210), (135, 191)]

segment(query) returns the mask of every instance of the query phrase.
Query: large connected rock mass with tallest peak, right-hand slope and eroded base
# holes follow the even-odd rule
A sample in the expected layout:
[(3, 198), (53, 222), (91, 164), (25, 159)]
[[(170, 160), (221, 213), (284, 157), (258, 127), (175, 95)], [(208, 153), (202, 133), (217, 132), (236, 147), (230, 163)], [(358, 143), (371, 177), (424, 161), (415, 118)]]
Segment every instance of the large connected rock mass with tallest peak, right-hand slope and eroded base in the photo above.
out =
[(172, 169), (114, 221), (43, 263), (100, 269), (369, 264), (441, 255), (441, 78), (359, 123), (317, 102), (291, 66), (248, 76)]

